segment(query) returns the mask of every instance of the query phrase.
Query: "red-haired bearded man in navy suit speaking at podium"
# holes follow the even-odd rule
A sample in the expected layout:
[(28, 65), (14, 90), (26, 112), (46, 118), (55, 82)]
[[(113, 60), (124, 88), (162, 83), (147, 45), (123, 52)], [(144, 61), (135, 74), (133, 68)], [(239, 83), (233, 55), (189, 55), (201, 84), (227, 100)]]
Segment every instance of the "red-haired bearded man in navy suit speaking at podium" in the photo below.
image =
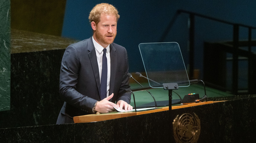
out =
[(60, 97), (64, 104), (56, 124), (74, 123), (74, 116), (108, 113), (114, 107), (131, 110), (128, 57), (113, 43), (117, 34), (117, 9), (96, 5), (89, 15), (93, 36), (69, 45), (60, 69)]

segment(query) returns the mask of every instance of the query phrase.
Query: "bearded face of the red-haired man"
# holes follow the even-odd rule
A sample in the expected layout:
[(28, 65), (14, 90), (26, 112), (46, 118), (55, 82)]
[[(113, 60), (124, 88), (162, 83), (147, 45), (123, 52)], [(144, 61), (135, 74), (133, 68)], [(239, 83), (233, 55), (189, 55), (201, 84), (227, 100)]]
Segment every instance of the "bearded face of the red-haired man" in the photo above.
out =
[(96, 25), (96, 31), (94, 33), (95, 40), (102, 47), (107, 47), (113, 43), (117, 35), (117, 18), (115, 15), (101, 14), (100, 21)]

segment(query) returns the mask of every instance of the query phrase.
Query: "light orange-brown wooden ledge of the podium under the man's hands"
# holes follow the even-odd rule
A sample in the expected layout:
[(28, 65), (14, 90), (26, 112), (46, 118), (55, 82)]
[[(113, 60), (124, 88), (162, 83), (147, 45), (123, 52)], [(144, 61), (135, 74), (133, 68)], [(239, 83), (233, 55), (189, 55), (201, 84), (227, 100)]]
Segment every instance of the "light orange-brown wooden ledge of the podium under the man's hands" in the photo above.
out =
[[(184, 105), (177, 105), (172, 106), (173, 109), (179, 109), (179, 108), (185, 108), (185, 107), (191, 107), (191, 106), (198, 106), (203, 104), (210, 104), (210, 103), (216, 103), (221, 101), (208, 101), (208, 102), (200, 102), (200, 103), (188, 103)], [(85, 123), (85, 122), (97, 122), (97, 121), (104, 121), (109, 119), (117, 119), (117, 118), (123, 118), (123, 117), (130, 117), (130, 116), (136, 116), (136, 115), (142, 115), (142, 114), (148, 114), (148, 113), (154, 113), (154, 112), (160, 112), (160, 111), (166, 111), (169, 110), (169, 106), (161, 107), (154, 110), (147, 110), (147, 111), (128, 111), (128, 112), (111, 112), (111, 113), (105, 113), (105, 114), (90, 114), (90, 115), (83, 115), (83, 116), (76, 116), (74, 117), (75, 123)]]

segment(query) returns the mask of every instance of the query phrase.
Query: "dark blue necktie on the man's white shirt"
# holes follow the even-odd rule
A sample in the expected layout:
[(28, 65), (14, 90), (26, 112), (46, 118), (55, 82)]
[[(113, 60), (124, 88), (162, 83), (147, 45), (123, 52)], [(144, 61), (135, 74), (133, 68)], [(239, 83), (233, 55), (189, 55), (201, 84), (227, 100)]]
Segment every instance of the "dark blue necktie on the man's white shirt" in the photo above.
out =
[(100, 100), (103, 100), (107, 97), (107, 77), (108, 77), (108, 63), (106, 57), (107, 49), (103, 49), (102, 56), (102, 72), (101, 72), (101, 81), (100, 81)]

